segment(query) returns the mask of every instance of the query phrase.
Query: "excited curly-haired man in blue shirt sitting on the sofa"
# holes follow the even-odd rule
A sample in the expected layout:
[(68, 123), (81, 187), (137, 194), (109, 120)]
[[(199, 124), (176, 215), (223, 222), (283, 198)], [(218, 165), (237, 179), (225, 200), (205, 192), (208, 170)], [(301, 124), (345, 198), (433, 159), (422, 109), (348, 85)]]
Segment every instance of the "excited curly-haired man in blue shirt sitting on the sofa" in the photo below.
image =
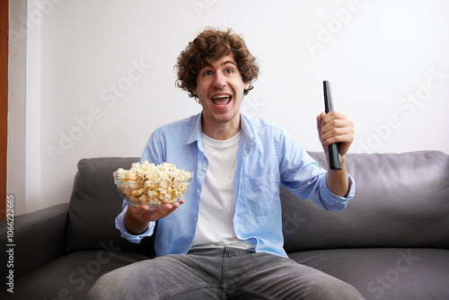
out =
[(192, 170), (185, 199), (158, 209), (126, 203), (116, 226), (128, 241), (155, 234), (154, 260), (116, 269), (90, 299), (362, 299), (354, 287), (290, 260), (283, 249), (280, 183), (303, 199), (341, 210), (355, 183), (345, 154), (353, 124), (321, 113), (321, 144), (339, 143), (343, 169), (321, 169), (282, 128), (241, 113), (259, 67), (233, 31), (207, 29), (178, 58), (178, 86), (197, 116), (154, 131), (141, 163)]

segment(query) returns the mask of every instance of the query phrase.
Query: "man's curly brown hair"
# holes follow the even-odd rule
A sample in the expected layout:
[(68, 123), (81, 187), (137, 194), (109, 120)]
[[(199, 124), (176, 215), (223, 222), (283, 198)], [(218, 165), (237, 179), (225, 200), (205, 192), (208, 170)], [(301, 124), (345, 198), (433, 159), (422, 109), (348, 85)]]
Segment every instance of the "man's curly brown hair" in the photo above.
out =
[(234, 33), (232, 29), (218, 31), (208, 27), (195, 40), (190, 41), (178, 57), (176, 85), (189, 92), (190, 97), (196, 97), (192, 88), (197, 87), (199, 70), (204, 66), (211, 66), (220, 57), (229, 54), (233, 54), (243, 82), (250, 83), (250, 87), (243, 92), (246, 95), (254, 88), (252, 83), (257, 80), (259, 66), (242, 36)]

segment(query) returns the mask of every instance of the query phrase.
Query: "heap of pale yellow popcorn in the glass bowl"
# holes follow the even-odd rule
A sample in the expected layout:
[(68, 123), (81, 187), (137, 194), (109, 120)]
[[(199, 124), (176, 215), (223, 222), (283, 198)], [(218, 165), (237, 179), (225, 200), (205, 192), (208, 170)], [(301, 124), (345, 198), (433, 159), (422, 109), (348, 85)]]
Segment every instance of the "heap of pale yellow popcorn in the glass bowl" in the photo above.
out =
[(180, 199), (189, 187), (190, 172), (172, 163), (155, 165), (133, 163), (131, 169), (119, 168), (116, 179), (121, 192), (136, 205), (163, 205)]

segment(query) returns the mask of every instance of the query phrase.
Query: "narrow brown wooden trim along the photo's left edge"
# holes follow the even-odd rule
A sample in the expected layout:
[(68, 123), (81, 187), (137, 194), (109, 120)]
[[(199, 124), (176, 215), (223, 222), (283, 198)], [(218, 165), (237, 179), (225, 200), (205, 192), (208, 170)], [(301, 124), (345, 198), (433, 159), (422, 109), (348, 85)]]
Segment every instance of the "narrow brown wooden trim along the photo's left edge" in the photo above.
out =
[(0, 219), (6, 217), (9, 0), (0, 0)]

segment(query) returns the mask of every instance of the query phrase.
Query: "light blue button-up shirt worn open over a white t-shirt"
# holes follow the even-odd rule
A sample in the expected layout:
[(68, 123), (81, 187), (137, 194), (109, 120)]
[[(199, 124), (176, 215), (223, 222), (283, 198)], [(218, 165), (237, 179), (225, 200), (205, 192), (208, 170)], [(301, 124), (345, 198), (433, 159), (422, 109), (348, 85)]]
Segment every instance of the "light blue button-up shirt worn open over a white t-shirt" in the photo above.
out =
[[(236, 236), (256, 244), (255, 251), (286, 257), (282, 234), (280, 184), (302, 199), (313, 199), (328, 210), (341, 210), (355, 194), (355, 182), (348, 175), (346, 198), (332, 193), (326, 184), (326, 170), (318, 166), (294, 137), (283, 128), (259, 118), (241, 114), (241, 141), (235, 174)], [(145, 146), (141, 163), (173, 163), (194, 172), (185, 203), (171, 215), (158, 220), (154, 248), (157, 256), (185, 254), (193, 242), (198, 220), (199, 196), (207, 173), (207, 157), (201, 143), (201, 113), (154, 131)], [(123, 222), (127, 203), (116, 218), (116, 227), (129, 242), (139, 243), (153, 234), (150, 222), (144, 234), (129, 234)]]

